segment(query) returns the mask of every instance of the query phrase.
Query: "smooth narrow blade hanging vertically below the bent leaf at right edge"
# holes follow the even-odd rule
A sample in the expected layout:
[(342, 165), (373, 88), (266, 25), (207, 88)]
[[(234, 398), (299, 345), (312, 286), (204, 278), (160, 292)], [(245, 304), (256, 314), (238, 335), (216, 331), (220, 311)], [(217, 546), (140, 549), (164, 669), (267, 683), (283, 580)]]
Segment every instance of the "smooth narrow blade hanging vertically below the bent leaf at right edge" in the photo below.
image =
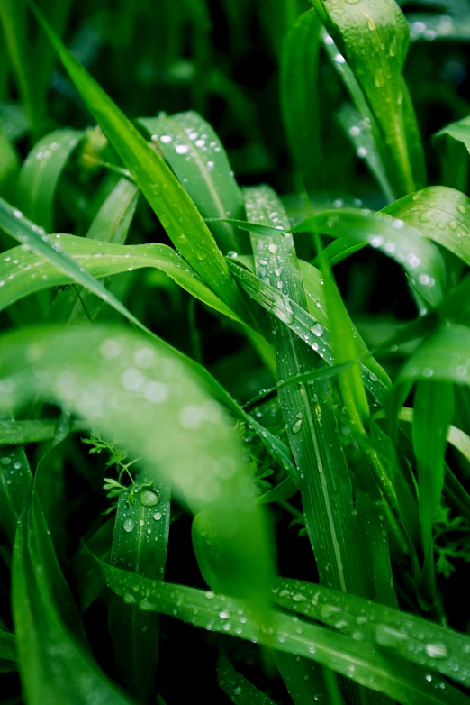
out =
[(418, 464), (420, 526), (424, 547), (422, 590), (431, 605), (438, 601), (432, 526), (444, 487), (444, 456), (453, 413), (452, 385), (433, 380), (418, 382), (414, 397), (412, 431)]

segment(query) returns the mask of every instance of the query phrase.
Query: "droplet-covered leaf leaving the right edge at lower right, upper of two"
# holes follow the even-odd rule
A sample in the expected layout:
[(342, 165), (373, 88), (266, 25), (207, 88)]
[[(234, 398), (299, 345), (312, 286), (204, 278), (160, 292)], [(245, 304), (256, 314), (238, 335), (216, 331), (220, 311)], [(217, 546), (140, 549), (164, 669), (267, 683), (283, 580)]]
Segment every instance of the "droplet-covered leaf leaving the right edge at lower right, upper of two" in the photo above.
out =
[[(274, 599), (286, 609), (338, 629), (357, 644), (379, 646), (387, 653), (470, 683), (470, 638), (410, 612), (384, 607), (310, 582), (280, 578)], [(434, 676), (429, 682), (432, 682)], [(438, 686), (440, 687), (440, 686)]]

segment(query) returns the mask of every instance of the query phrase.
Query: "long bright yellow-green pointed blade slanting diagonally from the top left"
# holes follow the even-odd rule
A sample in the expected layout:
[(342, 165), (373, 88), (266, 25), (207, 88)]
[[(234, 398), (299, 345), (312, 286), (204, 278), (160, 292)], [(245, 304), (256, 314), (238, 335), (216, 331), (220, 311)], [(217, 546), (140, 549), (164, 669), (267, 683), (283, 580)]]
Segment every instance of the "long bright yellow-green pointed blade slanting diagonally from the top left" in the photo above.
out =
[(36, 6), (31, 6), (78, 93), (158, 215), (170, 240), (225, 303), (236, 310), (243, 310), (240, 291), (230, 278), (227, 265), (212, 234), (185, 189), (158, 151), (144, 140), (111, 98), (68, 51), (57, 34), (50, 29)]

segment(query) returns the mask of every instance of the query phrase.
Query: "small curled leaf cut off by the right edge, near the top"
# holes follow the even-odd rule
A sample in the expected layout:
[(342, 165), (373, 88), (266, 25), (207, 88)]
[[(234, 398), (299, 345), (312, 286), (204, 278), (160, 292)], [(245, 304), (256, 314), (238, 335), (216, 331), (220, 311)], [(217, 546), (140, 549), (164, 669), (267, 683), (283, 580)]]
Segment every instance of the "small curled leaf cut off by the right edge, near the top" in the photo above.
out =
[(470, 118), (448, 124), (434, 135), (442, 159), (442, 177), (446, 186), (466, 191), (470, 152)]

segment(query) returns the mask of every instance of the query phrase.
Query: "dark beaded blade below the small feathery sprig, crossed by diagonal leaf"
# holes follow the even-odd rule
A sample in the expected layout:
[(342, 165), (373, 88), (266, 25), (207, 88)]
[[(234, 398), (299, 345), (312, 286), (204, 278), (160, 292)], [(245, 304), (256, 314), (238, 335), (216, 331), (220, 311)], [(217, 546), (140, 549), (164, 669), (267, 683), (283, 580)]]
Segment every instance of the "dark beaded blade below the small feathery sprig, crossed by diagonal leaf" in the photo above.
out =
[[(143, 480), (143, 478), (142, 478)], [(140, 479), (138, 479), (139, 485)], [(170, 492), (159, 482), (119, 498), (111, 563), (152, 580), (163, 580), (167, 560)], [(109, 628), (118, 673), (140, 702), (152, 700), (157, 670), (158, 615), (112, 595)]]

